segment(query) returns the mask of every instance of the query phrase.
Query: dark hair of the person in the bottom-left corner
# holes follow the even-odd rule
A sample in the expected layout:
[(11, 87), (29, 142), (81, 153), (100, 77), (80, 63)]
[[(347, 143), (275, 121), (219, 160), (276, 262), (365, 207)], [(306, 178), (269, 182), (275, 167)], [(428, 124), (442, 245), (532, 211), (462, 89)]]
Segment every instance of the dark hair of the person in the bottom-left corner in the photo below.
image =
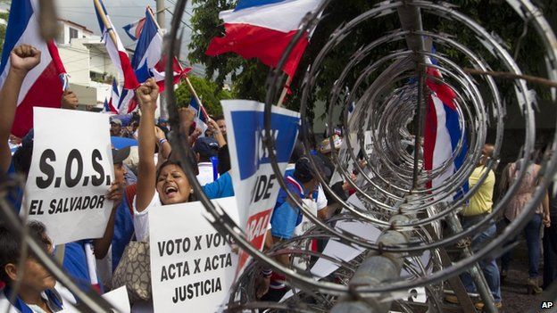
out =
[[(28, 224), (29, 235), (33, 236), (39, 243), (43, 243), (45, 250), (51, 243), (46, 235), (46, 227), (43, 223), (31, 221)], [(12, 263), (17, 264), (21, 253), (21, 235), (13, 232), (11, 228), (0, 223), (0, 280), (10, 284), (10, 277), (5, 272), (5, 266)]]

